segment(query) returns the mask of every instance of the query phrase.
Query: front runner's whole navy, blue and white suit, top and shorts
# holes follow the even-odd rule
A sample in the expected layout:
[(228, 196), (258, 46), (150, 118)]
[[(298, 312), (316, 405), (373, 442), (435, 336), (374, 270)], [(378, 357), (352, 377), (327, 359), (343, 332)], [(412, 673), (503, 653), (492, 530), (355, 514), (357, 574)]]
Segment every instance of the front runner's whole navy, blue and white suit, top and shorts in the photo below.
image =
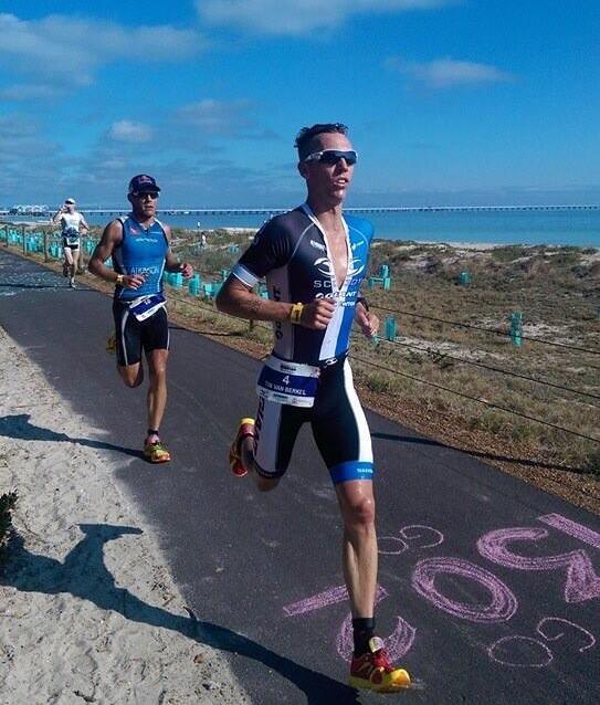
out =
[(306, 203), (270, 220), (232, 270), (232, 275), (248, 286), (264, 277), (273, 301), (309, 304), (324, 296), (336, 302), (325, 330), (291, 322), (273, 324), (273, 354), (283, 360), (317, 366), (320, 372), (312, 408), (260, 399), (254, 460), (265, 477), (285, 473), (297, 433), (309, 421), (334, 483), (372, 478), (369, 428), (346, 357), (373, 230), (370, 222), (359, 218), (345, 215), (344, 222), (348, 272), (341, 287), (325, 232)]

